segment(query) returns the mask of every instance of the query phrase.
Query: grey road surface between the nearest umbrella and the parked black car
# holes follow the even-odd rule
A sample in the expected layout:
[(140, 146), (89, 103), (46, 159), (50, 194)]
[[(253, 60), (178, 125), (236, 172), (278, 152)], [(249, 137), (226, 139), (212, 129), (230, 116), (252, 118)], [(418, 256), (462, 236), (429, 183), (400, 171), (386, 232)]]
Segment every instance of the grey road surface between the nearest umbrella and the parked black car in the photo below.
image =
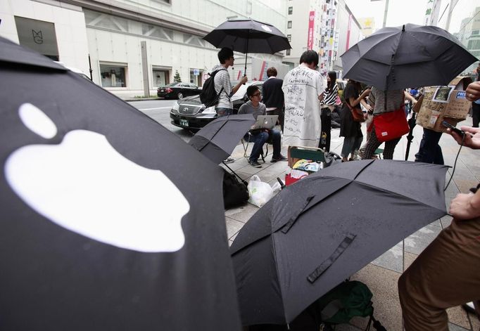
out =
[(170, 124), (170, 109), (172, 109), (172, 105), (176, 102), (177, 100), (144, 100), (130, 101), (128, 103), (145, 115), (155, 119), (156, 122), (165, 126), (166, 129), (172, 131), (184, 141), (189, 141), (191, 136), (193, 136), (190, 131), (180, 129)]

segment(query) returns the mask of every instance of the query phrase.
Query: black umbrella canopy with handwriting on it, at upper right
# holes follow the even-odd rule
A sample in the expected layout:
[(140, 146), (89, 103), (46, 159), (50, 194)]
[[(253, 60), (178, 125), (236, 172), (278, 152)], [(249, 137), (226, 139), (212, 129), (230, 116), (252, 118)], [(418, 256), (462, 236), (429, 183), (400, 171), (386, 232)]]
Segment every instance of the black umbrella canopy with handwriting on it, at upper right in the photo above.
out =
[(381, 90), (447, 85), (477, 61), (440, 27), (384, 27), (341, 56), (343, 77)]

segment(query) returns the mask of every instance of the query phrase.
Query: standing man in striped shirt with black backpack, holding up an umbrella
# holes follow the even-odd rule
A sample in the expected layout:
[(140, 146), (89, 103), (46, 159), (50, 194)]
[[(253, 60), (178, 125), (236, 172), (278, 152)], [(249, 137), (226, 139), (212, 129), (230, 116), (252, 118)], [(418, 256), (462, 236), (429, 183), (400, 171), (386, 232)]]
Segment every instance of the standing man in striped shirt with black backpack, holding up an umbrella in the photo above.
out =
[[(215, 65), (215, 67), (213, 67), (212, 71), (210, 72), (210, 78), (213, 78), (215, 92), (217, 93), (217, 96), (215, 100), (210, 101), (213, 103), (210, 103), (210, 105), (206, 106), (210, 107), (212, 105), (215, 105), (217, 116), (223, 117), (233, 114), (234, 106), (231, 98), (236, 93), (236, 91), (238, 91), (240, 86), (242, 86), (248, 81), (248, 79), (246, 76), (241, 77), (240, 82), (232, 88), (232, 83), (230, 82), (230, 75), (228, 74), (227, 69), (228, 67), (234, 65), (235, 58), (234, 52), (230, 48), (224, 47), (220, 49), (220, 51), (218, 52), (218, 60), (220, 61), (220, 65)], [(234, 162), (234, 159), (232, 159), (232, 157), (227, 157), (227, 160), (225, 160), (224, 162), (232, 163)]]

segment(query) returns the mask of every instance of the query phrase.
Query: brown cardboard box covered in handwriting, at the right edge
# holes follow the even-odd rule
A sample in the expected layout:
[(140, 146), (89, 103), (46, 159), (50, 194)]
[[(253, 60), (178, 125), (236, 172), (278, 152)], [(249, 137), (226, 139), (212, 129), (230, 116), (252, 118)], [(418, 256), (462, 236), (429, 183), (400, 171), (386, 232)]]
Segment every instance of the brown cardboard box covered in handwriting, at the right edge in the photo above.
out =
[[(467, 118), (472, 103), (465, 97), (465, 89), (472, 79), (456, 77), (448, 86), (424, 88), (422, 98), (415, 105), (417, 124), (437, 132), (446, 132), (443, 120), (454, 126)], [(414, 108), (414, 111), (415, 111)]]

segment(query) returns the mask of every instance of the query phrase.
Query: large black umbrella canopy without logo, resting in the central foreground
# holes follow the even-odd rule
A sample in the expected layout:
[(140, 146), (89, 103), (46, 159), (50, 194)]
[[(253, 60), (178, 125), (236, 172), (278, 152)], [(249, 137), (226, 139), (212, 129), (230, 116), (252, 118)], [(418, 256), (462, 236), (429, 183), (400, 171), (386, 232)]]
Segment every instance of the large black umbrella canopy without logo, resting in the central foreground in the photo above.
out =
[(243, 324), (291, 322), (397, 242), (444, 216), (446, 169), (361, 160), (284, 188), (230, 247)]

